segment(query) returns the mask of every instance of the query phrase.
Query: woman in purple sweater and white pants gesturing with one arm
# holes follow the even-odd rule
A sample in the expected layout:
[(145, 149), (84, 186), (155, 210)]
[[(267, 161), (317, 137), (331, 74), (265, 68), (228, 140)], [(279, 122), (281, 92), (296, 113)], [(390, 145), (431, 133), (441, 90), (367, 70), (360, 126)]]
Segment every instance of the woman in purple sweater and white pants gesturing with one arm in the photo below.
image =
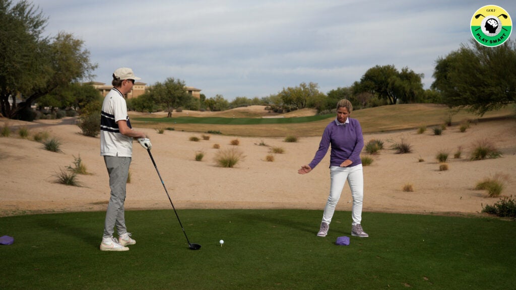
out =
[(314, 159), (309, 165), (303, 165), (298, 170), (299, 174), (306, 174), (317, 166), (320, 160), (328, 152), (331, 144), (330, 154), (330, 196), (322, 214), (322, 222), (317, 236), (325, 237), (330, 228), (331, 218), (335, 212), (335, 206), (341, 197), (342, 189), (346, 180), (351, 189), (353, 207), (351, 216), (351, 235), (368, 237), (361, 225), (362, 201), (364, 199), (364, 175), (362, 172), (362, 160), (360, 151), (364, 147), (362, 128), (357, 119), (349, 118), (353, 106), (348, 100), (341, 100), (337, 103), (337, 117), (331, 121), (322, 133), (319, 143), (319, 150), (315, 153)]

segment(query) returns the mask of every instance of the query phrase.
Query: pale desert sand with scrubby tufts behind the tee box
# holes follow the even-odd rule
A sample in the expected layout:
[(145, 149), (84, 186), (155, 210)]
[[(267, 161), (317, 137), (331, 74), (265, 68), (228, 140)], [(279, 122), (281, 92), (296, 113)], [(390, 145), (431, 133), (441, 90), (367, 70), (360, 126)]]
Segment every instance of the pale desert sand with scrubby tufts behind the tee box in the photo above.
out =
[[(253, 108), (248, 108), (253, 109)], [(263, 108), (255, 108), (263, 110)], [(13, 130), (29, 128), (33, 136), (46, 131), (58, 138), (62, 153), (43, 149), (42, 144), (22, 139), (16, 132), (0, 137), (0, 216), (35, 213), (105, 211), (109, 200), (108, 175), (100, 156), (100, 138), (80, 134), (74, 119), (13, 121), (0, 118)], [(136, 126), (135, 126), (136, 129)], [(165, 131), (158, 134), (150, 128), (138, 128), (152, 141), (152, 155), (171, 195), (174, 206), (181, 208), (300, 208), (321, 210), (329, 191), (329, 152), (309, 174), (297, 170), (308, 164), (318, 148), (320, 137), (301, 137), (287, 143), (283, 138), (235, 137), (218, 134), (190, 141), (200, 133)], [(321, 133), (324, 128), (321, 128)], [(489, 138), (503, 153), (502, 158), (470, 161), (474, 142)], [(245, 158), (235, 168), (218, 167), (214, 156), (218, 150), (234, 147)], [(513, 120), (490, 120), (472, 124), (461, 133), (458, 126), (448, 127), (441, 136), (432, 130), (417, 134), (416, 130), (364, 134), (364, 141), (380, 139), (385, 149), (374, 155), (374, 162), (364, 167), (364, 212), (414, 214), (479, 215), (482, 205), (494, 204), (486, 191), (475, 190), (477, 182), (495, 175), (505, 183), (504, 196), (516, 192), (516, 123)], [(404, 139), (412, 145), (412, 153), (395, 154), (388, 149), (392, 142)], [(220, 149), (214, 149), (214, 144)], [(260, 146), (265, 143), (266, 146)], [(281, 147), (283, 154), (270, 153)], [(462, 157), (454, 158), (458, 148)], [(439, 170), (436, 155), (449, 152), (447, 171)], [(197, 152), (204, 158), (195, 160)], [(266, 156), (274, 161), (267, 162)], [(86, 165), (88, 175), (78, 175), (82, 186), (66, 186), (55, 182), (55, 174), (73, 166), (74, 157)], [(424, 159), (420, 162), (419, 159)], [(137, 142), (133, 143), (131, 183), (127, 185), (126, 210), (171, 208), (163, 185), (149, 155)], [(414, 191), (402, 187), (412, 184)], [(346, 185), (337, 205), (338, 211), (351, 210), (351, 195)]]

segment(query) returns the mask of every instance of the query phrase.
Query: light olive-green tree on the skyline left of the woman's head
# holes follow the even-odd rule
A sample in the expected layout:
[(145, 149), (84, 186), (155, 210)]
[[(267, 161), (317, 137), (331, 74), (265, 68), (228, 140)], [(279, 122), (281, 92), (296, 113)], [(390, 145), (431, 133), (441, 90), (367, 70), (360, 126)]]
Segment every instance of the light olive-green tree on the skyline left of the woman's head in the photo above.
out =
[(316, 106), (324, 100), (324, 93), (319, 91), (317, 83), (301, 83), (297, 87), (283, 88), (278, 95), (286, 106), (295, 106), (298, 109), (307, 107), (308, 104)]

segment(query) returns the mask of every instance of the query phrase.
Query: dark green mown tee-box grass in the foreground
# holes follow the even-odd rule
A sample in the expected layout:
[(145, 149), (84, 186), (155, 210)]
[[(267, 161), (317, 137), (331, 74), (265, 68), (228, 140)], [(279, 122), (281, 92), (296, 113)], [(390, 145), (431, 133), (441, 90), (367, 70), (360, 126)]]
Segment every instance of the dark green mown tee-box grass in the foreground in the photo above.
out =
[[(104, 213), (0, 218), (2, 289), (511, 289), (513, 221), (364, 213), (369, 238), (350, 236), (336, 212), (316, 237), (322, 211), (127, 211), (137, 244), (98, 249)], [(218, 241), (224, 239), (223, 247)]]

